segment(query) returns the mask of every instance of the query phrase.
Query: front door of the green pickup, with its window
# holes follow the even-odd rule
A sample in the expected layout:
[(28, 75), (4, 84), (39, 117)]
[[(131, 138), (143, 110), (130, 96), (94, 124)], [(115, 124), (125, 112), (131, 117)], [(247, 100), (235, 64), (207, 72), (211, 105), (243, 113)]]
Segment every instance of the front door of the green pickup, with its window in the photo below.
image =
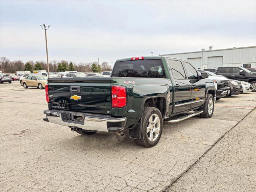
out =
[(192, 90), (191, 90), (191, 106), (190, 108), (196, 108), (202, 106), (205, 100), (205, 83), (202, 79), (199, 79), (199, 74), (197, 70), (188, 62), (183, 62), (188, 79), (190, 80)]

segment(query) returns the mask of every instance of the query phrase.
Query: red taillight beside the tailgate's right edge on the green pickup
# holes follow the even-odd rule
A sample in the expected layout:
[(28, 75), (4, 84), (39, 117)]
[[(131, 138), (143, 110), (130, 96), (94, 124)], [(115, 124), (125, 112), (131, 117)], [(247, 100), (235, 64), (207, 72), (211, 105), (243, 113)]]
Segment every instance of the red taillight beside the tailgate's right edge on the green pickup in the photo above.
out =
[(111, 86), (112, 108), (126, 106), (126, 88), (122, 86)]

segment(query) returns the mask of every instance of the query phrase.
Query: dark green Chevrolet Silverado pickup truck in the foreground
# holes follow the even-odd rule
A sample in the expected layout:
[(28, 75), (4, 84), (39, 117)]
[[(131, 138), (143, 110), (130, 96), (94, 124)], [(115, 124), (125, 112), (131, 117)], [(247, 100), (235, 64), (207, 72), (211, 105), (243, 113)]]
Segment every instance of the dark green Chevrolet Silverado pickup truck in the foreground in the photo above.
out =
[(214, 111), (215, 86), (188, 61), (164, 56), (118, 59), (110, 77), (49, 78), (45, 121), (82, 135), (129, 134), (139, 145), (160, 140), (163, 122)]

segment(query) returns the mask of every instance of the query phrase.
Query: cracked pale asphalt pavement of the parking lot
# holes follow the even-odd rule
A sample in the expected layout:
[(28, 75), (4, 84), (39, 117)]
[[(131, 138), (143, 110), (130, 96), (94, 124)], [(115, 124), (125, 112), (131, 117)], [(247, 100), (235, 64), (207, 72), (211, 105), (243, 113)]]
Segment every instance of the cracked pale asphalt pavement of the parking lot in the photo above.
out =
[(256, 190), (256, 92), (216, 101), (210, 119), (164, 123), (153, 148), (44, 122), (44, 90), (0, 85), (1, 192)]

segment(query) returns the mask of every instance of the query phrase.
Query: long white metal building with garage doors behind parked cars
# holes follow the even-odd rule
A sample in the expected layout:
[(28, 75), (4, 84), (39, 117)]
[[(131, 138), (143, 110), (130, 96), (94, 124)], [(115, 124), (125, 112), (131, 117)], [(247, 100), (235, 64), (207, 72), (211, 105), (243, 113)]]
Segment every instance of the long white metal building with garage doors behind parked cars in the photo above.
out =
[(188, 60), (197, 69), (218, 68), (221, 66), (243, 66), (246, 68), (256, 68), (256, 46), (234, 47), (229, 49), (218, 49), (162, 54), (160, 56), (170, 56)]

